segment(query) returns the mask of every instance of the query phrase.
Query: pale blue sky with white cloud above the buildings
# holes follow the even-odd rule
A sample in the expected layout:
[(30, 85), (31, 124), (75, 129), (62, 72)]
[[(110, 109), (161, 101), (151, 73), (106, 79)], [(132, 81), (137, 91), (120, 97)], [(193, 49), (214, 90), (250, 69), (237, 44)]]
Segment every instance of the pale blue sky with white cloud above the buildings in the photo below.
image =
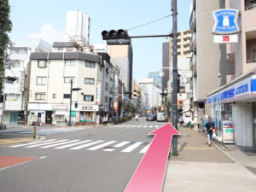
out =
[[(191, 0), (177, 0), (177, 30), (189, 29)], [(105, 43), (102, 31), (131, 29), (135, 26), (171, 15), (171, 0), (9, 0), (9, 34), (11, 41), (42, 38), (52, 44), (63, 41), (66, 12), (81, 10), (90, 16), (90, 44)], [(157, 35), (172, 32), (172, 17), (128, 31), (130, 36)], [(133, 79), (137, 82), (162, 65), (162, 44), (168, 38), (136, 38), (133, 49)]]

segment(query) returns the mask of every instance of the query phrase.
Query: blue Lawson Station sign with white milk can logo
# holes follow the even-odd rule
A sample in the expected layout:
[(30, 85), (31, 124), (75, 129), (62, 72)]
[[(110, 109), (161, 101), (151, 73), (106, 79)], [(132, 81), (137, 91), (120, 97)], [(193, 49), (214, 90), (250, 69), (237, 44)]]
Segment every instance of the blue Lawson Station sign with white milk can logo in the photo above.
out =
[(215, 20), (212, 32), (218, 34), (231, 34), (239, 32), (237, 25), (238, 10), (236, 9), (219, 9), (212, 12)]

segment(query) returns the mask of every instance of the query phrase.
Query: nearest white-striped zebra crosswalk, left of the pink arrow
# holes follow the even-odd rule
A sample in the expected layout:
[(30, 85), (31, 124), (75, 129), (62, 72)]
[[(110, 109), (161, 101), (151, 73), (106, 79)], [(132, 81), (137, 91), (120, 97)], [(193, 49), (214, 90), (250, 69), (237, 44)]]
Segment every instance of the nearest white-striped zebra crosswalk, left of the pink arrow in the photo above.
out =
[(150, 143), (145, 142), (129, 142), (129, 141), (104, 141), (104, 140), (79, 140), (79, 139), (49, 139), (45, 141), (22, 143), (9, 146), (10, 148), (53, 148), (69, 150), (85, 149), (88, 151), (102, 150), (106, 152), (113, 152), (119, 150), (120, 153), (131, 153), (137, 151), (140, 154), (145, 154)]

